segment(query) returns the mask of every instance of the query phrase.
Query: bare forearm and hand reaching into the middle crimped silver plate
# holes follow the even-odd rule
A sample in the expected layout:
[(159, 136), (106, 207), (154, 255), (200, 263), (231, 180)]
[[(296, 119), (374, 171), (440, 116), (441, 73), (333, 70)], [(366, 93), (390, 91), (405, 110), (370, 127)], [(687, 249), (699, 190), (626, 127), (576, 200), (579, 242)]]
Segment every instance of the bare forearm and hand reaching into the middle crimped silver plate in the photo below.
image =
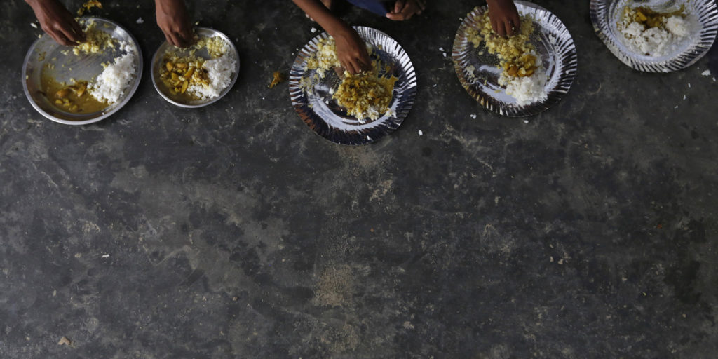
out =
[(337, 57), (350, 73), (360, 73), (371, 67), (364, 41), (347, 23), (332, 14), (319, 0), (293, 0), (337, 42)]

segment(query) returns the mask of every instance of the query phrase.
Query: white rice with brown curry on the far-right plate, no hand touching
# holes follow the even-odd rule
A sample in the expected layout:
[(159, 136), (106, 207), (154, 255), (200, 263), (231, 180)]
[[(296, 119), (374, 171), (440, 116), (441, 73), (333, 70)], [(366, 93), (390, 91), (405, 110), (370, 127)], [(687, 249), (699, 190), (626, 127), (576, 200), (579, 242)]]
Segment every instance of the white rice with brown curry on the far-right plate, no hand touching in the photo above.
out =
[(689, 36), (684, 11), (684, 5), (678, 11), (666, 13), (645, 6), (624, 6), (617, 29), (623, 34), (625, 45), (635, 53), (651, 57), (670, 55)]

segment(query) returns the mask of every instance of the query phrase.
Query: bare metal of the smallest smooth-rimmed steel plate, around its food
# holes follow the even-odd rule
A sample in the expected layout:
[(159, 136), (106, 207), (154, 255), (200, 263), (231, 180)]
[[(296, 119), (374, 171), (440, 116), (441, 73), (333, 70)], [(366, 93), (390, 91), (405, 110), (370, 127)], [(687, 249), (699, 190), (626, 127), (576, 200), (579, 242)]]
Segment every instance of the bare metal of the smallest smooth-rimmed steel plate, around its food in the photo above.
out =
[[(184, 108), (198, 108), (202, 106), (208, 106), (212, 103), (215, 103), (220, 100), (220, 98), (223, 98), (229, 91), (234, 87), (234, 84), (237, 82), (237, 78), (239, 76), (239, 52), (237, 52), (237, 47), (234, 46), (234, 43), (232, 40), (222, 32), (219, 32), (215, 29), (210, 29), (208, 27), (195, 27), (195, 34), (197, 34), (200, 37), (221, 37), (224, 39), (230, 47), (230, 56), (234, 56), (237, 65), (234, 70), (234, 74), (232, 75), (232, 82), (230, 82), (227, 87), (222, 90), (220, 95), (213, 98), (208, 98), (206, 100), (191, 100), (187, 101), (184, 98), (180, 98), (177, 95), (173, 95), (169, 92), (169, 89), (162, 83), (162, 80), (159, 78), (159, 69), (162, 66), (162, 59), (164, 57), (164, 53), (167, 50), (175, 49), (172, 44), (165, 41), (162, 42), (162, 45), (159, 45), (159, 48), (156, 52), (154, 52), (154, 55), (152, 56), (152, 67), (151, 67), (151, 73), (152, 73), (152, 83), (154, 84), (154, 89), (157, 90), (157, 93), (162, 96), (167, 102), (172, 103), (173, 105), (184, 107)], [(189, 52), (187, 50), (186, 52)], [(180, 52), (180, 54), (183, 54), (185, 52)], [(197, 50), (195, 52), (195, 55), (198, 57), (204, 57), (205, 59), (208, 59), (210, 56), (207, 53), (207, 50)]]

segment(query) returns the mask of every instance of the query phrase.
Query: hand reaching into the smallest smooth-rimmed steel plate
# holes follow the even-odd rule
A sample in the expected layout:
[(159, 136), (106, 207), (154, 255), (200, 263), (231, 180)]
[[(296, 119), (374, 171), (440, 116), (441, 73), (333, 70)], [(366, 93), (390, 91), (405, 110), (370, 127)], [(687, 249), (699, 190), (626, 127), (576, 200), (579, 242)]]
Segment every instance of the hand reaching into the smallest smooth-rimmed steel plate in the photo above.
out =
[(195, 41), (184, 0), (155, 0), (157, 26), (164, 32), (167, 42), (187, 47)]

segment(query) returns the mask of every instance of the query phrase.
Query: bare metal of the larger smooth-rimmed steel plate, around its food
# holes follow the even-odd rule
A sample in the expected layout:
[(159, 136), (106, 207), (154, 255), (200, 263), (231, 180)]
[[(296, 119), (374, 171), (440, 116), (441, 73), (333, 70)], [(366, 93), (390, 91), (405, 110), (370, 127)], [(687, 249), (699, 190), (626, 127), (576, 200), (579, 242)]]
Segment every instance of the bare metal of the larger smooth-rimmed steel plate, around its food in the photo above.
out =
[[(104, 108), (102, 111), (93, 113), (71, 113), (62, 111), (55, 107), (42, 92), (40, 79), (42, 77), (43, 67), (49, 71), (49, 75), (60, 82), (67, 82), (70, 78), (78, 80), (93, 80), (103, 71), (102, 62), (112, 61), (118, 55), (122, 55), (123, 51), (115, 48), (103, 54), (80, 54), (72, 53), (73, 47), (57, 44), (52, 37), (43, 34), (42, 37), (35, 40), (27, 51), (24, 64), (22, 65), (22, 87), (32, 107), (42, 116), (52, 121), (65, 123), (67, 125), (85, 125), (95, 123), (112, 116), (123, 108), (132, 98), (139, 81), (142, 78), (142, 52), (139, 48), (137, 40), (120, 24), (101, 17), (83, 17), (81, 21), (94, 21), (98, 26), (96, 29), (106, 32), (120, 42), (126, 41), (131, 44), (135, 52), (135, 68), (134, 82), (129, 86), (129, 90), (123, 93), (122, 98), (115, 103)], [(62, 52), (67, 52), (67, 55)], [(44, 53), (41, 59), (40, 54)], [(55, 60), (53, 60), (55, 59)], [(46, 66), (47, 65), (47, 66)], [(49, 65), (54, 66), (50, 68)], [(64, 67), (62, 66), (64, 65)]]

